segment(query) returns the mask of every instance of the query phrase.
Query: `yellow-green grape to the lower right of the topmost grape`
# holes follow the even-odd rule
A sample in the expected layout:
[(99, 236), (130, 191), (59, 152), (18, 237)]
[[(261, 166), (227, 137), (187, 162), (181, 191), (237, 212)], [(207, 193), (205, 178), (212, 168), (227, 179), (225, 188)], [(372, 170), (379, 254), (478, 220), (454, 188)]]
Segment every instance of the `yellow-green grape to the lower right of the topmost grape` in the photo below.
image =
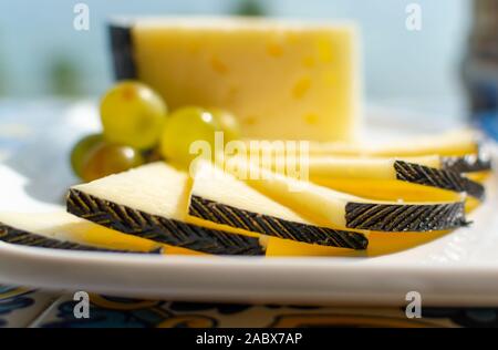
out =
[(166, 159), (188, 166), (198, 156), (190, 154), (190, 144), (206, 141), (212, 155), (215, 132), (219, 130), (219, 124), (208, 111), (195, 106), (179, 109), (168, 116), (164, 125), (160, 152)]

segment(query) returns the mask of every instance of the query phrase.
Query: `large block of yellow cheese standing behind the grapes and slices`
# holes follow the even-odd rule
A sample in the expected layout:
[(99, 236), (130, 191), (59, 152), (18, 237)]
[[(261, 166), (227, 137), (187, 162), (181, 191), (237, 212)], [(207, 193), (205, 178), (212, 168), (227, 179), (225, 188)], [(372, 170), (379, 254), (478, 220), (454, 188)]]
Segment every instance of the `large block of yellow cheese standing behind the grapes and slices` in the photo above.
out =
[(113, 23), (116, 78), (149, 84), (172, 109), (227, 109), (250, 138), (355, 136), (359, 68), (352, 24), (198, 17)]

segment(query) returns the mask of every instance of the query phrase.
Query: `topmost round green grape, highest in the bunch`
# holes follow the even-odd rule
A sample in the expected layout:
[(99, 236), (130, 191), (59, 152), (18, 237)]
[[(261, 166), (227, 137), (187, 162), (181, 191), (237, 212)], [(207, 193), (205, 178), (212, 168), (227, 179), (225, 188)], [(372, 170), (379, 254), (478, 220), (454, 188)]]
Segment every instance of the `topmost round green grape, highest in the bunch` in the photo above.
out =
[(138, 150), (151, 148), (159, 141), (166, 115), (164, 100), (135, 81), (116, 84), (101, 102), (105, 140)]

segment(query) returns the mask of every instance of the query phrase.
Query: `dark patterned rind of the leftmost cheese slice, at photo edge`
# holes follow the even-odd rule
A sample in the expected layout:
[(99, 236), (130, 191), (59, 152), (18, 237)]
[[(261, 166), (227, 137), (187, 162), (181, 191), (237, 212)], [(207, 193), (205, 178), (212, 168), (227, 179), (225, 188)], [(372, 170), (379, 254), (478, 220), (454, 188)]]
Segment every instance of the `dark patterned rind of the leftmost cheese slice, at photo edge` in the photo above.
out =
[(108, 251), (108, 253), (136, 253), (136, 254), (162, 254), (163, 248), (158, 247), (149, 251), (135, 251), (135, 250), (120, 250), (97, 248), (87, 245), (81, 245), (68, 240), (59, 240), (48, 238), (42, 235), (29, 233), (23, 229), (18, 229), (10, 225), (0, 223), (0, 240), (19, 246), (39, 247), (39, 248), (52, 248), (64, 250), (85, 250), (85, 251)]

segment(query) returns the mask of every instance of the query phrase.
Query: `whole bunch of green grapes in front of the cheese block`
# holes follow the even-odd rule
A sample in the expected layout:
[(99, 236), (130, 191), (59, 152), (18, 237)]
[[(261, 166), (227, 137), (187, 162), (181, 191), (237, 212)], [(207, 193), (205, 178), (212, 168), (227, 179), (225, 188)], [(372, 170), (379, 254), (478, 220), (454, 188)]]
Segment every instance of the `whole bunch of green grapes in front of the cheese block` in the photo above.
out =
[(187, 106), (168, 115), (160, 95), (136, 81), (110, 89), (100, 112), (103, 132), (83, 137), (71, 153), (74, 174), (85, 182), (163, 158), (188, 166), (196, 156), (193, 142), (206, 141), (214, 150), (217, 131), (225, 142), (240, 137), (231, 113)]

